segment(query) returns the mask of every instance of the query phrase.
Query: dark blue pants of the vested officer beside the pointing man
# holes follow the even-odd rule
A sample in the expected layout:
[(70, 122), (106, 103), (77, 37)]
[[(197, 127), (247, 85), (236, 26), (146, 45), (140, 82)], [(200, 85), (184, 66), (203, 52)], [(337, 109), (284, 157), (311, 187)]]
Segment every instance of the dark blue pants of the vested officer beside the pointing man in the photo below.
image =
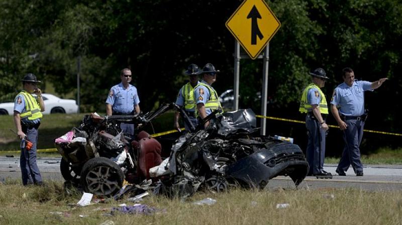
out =
[(325, 159), (326, 131), (320, 128), (315, 118), (306, 117), (306, 128), (309, 136), (306, 159), (310, 166), (309, 174), (318, 174), (323, 171)]

